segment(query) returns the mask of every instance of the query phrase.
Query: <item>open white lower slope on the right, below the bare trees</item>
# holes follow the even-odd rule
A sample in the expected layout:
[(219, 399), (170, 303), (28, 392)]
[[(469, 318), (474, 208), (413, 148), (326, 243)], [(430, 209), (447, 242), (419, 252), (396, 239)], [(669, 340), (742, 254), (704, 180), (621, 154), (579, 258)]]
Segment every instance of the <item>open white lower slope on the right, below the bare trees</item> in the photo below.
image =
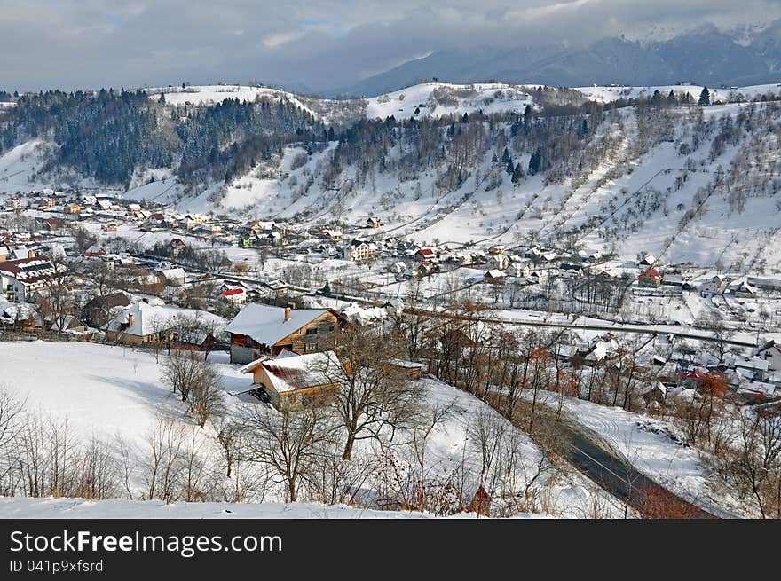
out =
[[(377, 172), (371, 183), (344, 195), (326, 190), (318, 180), (304, 191), (302, 185), (327, 161), (335, 144), (305, 158), (304, 165), (296, 169), (290, 161), (303, 150), (292, 148), (286, 150), (276, 177), (256, 177), (250, 172), (233, 180), (217, 207), (241, 216), (286, 220), (304, 216), (305, 222), (316, 223), (333, 220), (334, 206), (339, 204), (339, 215), (348, 224), (362, 224), (366, 216), (381, 216), (385, 224), (381, 232), (405, 235), (421, 243), (462, 244), (480, 239), (505, 244), (524, 239), (555, 243), (565, 232), (577, 232), (586, 247), (615, 251), (622, 258), (634, 259), (645, 251), (673, 262), (705, 265), (717, 259), (726, 264), (756, 262), (746, 242), (766, 240), (753, 250), (761, 251), (760, 260), (776, 263), (779, 255), (773, 248), (777, 245), (770, 243), (777, 232), (777, 199), (772, 195), (777, 153), (773, 149), (762, 153), (761, 167), (730, 178), (736, 183), (731, 194), (710, 196), (703, 211), (685, 226), (681, 223), (687, 210), (698, 208), (704, 195), (700, 192), (714, 184), (717, 170), (729, 169), (757, 146), (746, 130), (741, 131), (735, 145), (724, 144), (719, 135), (724, 120), (734, 123), (755, 108), (750, 104), (710, 107), (703, 121), (696, 122), (697, 133), (692, 120), (681, 116), (673, 121), (677, 128), (670, 130), (669, 137), (660, 137), (651, 145), (638, 141), (635, 117), (625, 111), (599, 136), (610, 143), (610, 155), (587, 174), (563, 183), (546, 183), (538, 175), (512, 185), (502, 169), (497, 171), (489, 153), (451, 192), (437, 187), (435, 172), (422, 173), (410, 182)], [(706, 131), (705, 137), (698, 137), (700, 130)], [(698, 139), (697, 147), (682, 155), (682, 144), (690, 142), (692, 136)], [(772, 143), (774, 137), (764, 139)], [(714, 140), (723, 145), (714, 149)], [(715, 157), (713, 153), (717, 153)], [(400, 154), (401, 148), (395, 147), (390, 156)], [(519, 161), (527, 164), (528, 160), (525, 155)], [(348, 180), (355, 176), (350, 168), (343, 175)], [(488, 181), (492, 175), (499, 177), (495, 185)], [(764, 194), (758, 190), (736, 204), (741, 190), (735, 188), (746, 180), (752, 180), (753, 187), (765, 184), (770, 189)], [(203, 194), (185, 197), (175, 207), (206, 211), (210, 203)]]

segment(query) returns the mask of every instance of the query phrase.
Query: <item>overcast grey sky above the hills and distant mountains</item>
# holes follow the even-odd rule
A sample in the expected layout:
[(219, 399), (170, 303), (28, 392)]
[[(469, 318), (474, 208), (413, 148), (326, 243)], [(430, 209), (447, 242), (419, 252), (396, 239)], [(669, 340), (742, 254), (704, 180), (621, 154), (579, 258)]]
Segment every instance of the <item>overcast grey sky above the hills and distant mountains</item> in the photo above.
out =
[(0, 0), (0, 89), (350, 85), (430, 51), (781, 16), (778, 0)]

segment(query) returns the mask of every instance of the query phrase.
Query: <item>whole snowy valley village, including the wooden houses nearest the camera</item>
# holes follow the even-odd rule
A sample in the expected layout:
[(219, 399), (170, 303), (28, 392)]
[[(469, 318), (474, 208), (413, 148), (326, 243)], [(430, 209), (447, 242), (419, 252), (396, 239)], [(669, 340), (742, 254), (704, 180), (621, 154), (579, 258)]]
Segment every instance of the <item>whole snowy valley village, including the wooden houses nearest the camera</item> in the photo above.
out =
[[(781, 414), (781, 278), (566, 245), (417, 243), (375, 216), (241, 222), (52, 190), (0, 204), (4, 342), (122, 346), (162, 366), (197, 354), (228, 370), (229, 399), (282, 414), (333, 405), (359, 365), (487, 402), (495, 394), (524, 407), (541, 391), (607, 405), (675, 422), (679, 444), (714, 393), (720, 405)], [(382, 361), (350, 357), (344, 337), (377, 334), (397, 348), (381, 349)], [(505, 360), (509, 345), (527, 349), (527, 367), (539, 358), (546, 369), (517, 393), (501, 371), (519, 365), (516, 355)], [(476, 367), (489, 370), (485, 381), (471, 376)], [(493, 492), (472, 488), (460, 509), (488, 514)]]

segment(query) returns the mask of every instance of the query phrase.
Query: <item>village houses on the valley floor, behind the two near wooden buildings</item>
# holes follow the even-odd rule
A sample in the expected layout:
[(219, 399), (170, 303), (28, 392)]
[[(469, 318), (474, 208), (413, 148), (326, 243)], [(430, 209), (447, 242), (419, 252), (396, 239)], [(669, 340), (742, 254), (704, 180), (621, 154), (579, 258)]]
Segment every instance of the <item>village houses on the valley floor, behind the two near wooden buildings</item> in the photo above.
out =
[[(225, 348), (237, 341), (225, 331), (227, 321), (248, 303), (328, 308), (342, 324), (368, 325), (400, 315), (414, 291), (432, 310), (468, 299), (514, 323), (594, 327), (573, 340), (580, 341), (575, 350), (581, 354), (591, 342), (609, 345), (622, 326), (645, 326), (654, 337), (667, 333), (670, 339), (702, 334), (720, 344), (721, 355), (736, 352), (726, 360), (711, 360), (712, 349), (701, 351), (701, 360), (683, 358), (675, 369), (679, 377), (718, 364), (734, 372), (736, 393), (781, 399), (781, 365), (766, 348), (777, 336), (781, 277), (730, 276), (697, 264), (662, 264), (652, 255), (626, 263), (598, 251), (567, 253), (539, 244), (423, 246), (384, 234), (375, 216), (365, 224), (319, 227), (242, 224), (119, 195), (52, 190), (9, 197), (2, 208), (5, 329), (128, 344), (165, 337), (198, 349)], [(80, 296), (52, 312), (46, 281), (66, 262)], [(118, 331), (117, 317), (126, 321), (125, 311), (138, 310), (139, 302), (157, 309), (158, 328), (146, 333), (147, 324), (141, 333), (137, 317), (137, 325)], [(202, 333), (174, 324), (187, 317), (198, 319)], [(162, 328), (163, 319), (170, 327)], [(667, 382), (674, 379), (669, 375)]]

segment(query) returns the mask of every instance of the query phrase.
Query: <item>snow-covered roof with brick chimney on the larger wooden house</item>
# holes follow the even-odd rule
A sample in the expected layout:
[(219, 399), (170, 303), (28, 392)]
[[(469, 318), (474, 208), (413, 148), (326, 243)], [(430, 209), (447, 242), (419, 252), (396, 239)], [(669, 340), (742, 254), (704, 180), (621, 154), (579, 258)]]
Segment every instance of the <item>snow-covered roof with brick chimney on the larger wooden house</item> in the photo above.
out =
[(284, 308), (252, 302), (239, 311), (226, 331), (273, 345), (327, 312), (328, 309), (291, 309), (290, 320), (286, 321)]

